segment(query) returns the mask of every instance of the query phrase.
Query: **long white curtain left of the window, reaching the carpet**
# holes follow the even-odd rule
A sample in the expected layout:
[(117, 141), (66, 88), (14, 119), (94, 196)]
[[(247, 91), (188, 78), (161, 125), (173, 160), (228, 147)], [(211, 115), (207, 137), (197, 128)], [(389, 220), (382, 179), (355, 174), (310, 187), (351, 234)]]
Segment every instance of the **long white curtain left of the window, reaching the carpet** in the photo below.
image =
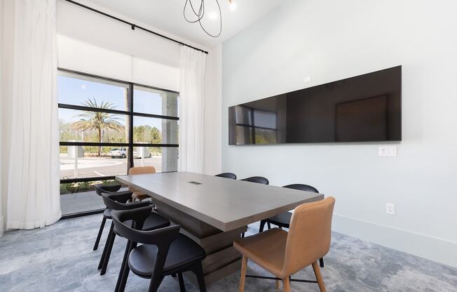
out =
[[(14, 0), (5, 29), (6, 225), (32, 229), (61, 217), (56, 0)], [(13, 13), (12, 13), (13, 12)], [(2, 15), (5, 16), (6, 15)], [(6, 19), (6, 18), (5, 18)], [(10, 48), (7, 48), (10, 46)], [(4, 190), (5, 190), (4, 189)]]

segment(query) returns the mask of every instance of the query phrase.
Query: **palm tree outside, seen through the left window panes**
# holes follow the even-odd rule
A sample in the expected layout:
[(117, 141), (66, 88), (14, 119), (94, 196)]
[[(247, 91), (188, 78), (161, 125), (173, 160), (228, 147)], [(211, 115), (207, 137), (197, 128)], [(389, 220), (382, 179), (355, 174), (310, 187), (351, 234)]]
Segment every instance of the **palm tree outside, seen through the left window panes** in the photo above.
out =
[[(88, 98), (82, 103), (85, 107), (95, 107), (104, 110), (114, 110), (115, 106), (110, 102), (102, 102), (100, 105), (97, 104), (97, 100)], [(75, 117), (81, 118), (81, 121), (76, 121), (71, 124), (71, 127), (75, 130), (92, 130), (95, 129), (98, 132), (98, 142), (102, 142), (102, 133), (104, 129), (114, 130), (122, 133), (125, 129), (121, 123), (118, 122), (119, 118), (116, 114), (109, 114), (107, 112), (91, 112), (84, 111), (83, 114), (78, 114)], [(102, 156), (102, 147), (98, 147), (98, 156)]]

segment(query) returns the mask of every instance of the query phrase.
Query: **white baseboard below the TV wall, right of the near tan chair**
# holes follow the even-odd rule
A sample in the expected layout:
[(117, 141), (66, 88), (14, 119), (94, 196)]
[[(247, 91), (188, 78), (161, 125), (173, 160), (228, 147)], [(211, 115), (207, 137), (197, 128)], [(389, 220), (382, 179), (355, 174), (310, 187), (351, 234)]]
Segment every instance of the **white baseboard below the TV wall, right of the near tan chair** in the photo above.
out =
[(332, 230), (457, 267), (457, 242), (334, 214)]

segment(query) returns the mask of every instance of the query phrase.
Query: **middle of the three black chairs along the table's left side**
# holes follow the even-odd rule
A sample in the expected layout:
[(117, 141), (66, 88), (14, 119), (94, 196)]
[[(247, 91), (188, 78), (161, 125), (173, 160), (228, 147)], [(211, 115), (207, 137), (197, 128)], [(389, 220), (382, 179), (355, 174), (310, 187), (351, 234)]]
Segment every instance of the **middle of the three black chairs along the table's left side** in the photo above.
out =
[[(129, 191), (117, 192), (114, 194), (102, 194), (102, 198), (103, 203), (107, 206), (107, 210), (110, 211), (110, 217), (112, 216), (112, 211), (114, 210), (132, 210), (144, 206), (151, 206), (151, 209), (153, 208), (150, 201), (137, 201), (127, 204), (127, 202), (132, 199), (132, 192)], [(163, 218), (156, 212), (149, 212), (144, 221), (144, 226), (142, 226), (142, 230), (155, 230), (167, 226), (170, 226), (170, 221)], [(101, 275), (107, 272), (109, 256), (111, 255), (115, 238), (116, 233), (114, 232), (114, 223), (111, 222), (107, 243), (104, 245), (102, 257), (100, 258), (100, 263), (98, 264), (98, 270), (101, 270)]]

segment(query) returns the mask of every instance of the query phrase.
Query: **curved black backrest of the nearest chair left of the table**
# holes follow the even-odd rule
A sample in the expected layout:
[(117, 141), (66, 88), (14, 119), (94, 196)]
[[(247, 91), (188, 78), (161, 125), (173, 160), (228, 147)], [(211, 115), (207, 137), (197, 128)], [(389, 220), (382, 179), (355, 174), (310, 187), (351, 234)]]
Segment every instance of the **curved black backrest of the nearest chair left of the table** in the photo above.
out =
[[(173, 225), (152, 231), (142, 231), (144, 220), (146, 220), (151, 211), (152, 206), (147, 206), (133, 210), (112, 211), (111, 215), (113, 217), (114, 229), (119, 236), (135, 244), (152, 244), (157, 246), (158, 250), (152, 277), (160, 278), (170, 245), (177, 238), (181, 227), (179, 225)], [(133, 221), (135, 228), (124, 224), (130, 220)]]

